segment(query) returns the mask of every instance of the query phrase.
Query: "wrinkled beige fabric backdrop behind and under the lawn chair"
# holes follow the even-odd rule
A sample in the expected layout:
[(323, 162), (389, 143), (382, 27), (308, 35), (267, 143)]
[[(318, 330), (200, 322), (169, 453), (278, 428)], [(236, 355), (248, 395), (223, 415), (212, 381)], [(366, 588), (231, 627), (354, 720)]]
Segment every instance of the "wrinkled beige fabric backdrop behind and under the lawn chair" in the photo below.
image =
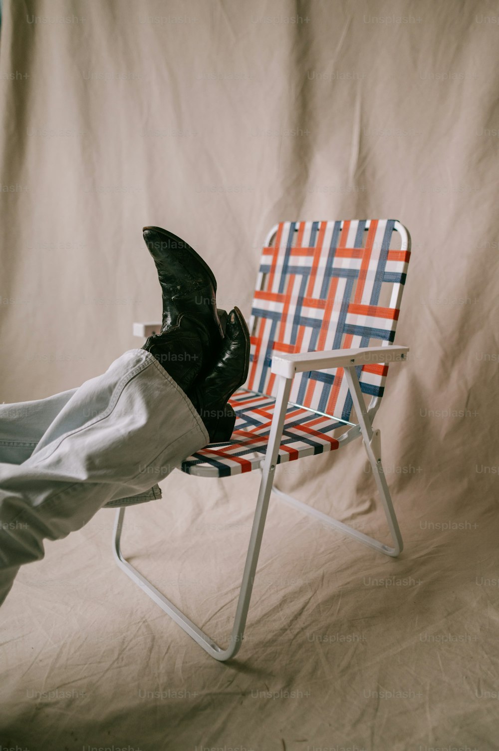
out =
[[(400, 559), (272, 499), (248, 639), (220, 665), (113, 565), (101, 511), (2, 608), (3, 745), (496, 749), (499, 6), (5, 5), (0, 400), (137, 346), (132, 321), (161, 313), (143, 225), (188, 240), (245, 315), (280, 220), (393, 217), (413, 257), (412, 354), (377, 416)], [(384, 534), (360, 445), (287, 469), (283, 487)], [(223, 640), (257, 478), (163, 490), (125, 549)]]

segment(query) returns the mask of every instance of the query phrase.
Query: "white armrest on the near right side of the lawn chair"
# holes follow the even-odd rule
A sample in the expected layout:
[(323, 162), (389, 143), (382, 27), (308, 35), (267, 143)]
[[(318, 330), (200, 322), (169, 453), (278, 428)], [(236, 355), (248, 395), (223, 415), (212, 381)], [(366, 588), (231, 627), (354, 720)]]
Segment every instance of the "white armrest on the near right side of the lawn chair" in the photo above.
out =
[(330, 349), (320, 352), (273, 354), (272, 372), (293, 378), (295, 373), (308, 370), (347, 368), (371, 363), (396, 363), (407, 360), (408, 347), (362, 347), (360, 349)]

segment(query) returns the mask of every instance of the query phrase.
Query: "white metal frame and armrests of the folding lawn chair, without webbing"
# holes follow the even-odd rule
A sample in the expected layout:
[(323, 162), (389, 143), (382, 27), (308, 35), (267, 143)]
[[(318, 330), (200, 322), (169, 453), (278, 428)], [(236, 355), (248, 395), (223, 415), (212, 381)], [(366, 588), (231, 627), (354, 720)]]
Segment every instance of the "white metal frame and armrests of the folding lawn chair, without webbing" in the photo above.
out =
[[(366, 229), (369, 223), (366, 224)], [(395, 222), (394, 230), (401, 234), (401, 249), (410, 250), (410, 235), (404, 225)], [(275, 228), (269, 232), (266, 239), (266, 245), (269, 245), (272, 235), (275, 234)], [(392, 307), (399, 307), (401, 289), (395, 299), (392, 298)], [(157, 330), (158, 324), (134, 324), (134, 333), (139, 336), (149, 336), (153, 330)], [(149, 334), (146, 334), (149, 331)], [(128, 562), (123, 556), (121, 550), (121, 537), (123, 523), (125, 519), (126, 507), (119, 508), (116, 513), (116, 520), (113, 529), (113, 553), (116, 563), (128, 577), (131, 578), (138, 586), (159, 605), (159, 607), (173, 620), (181, 626), (184, 631), (200, 645), (203, 650), (217, 659), (224, 662), (236, 656), (242, 645), (245, 635), (246, 620), (248, 617), (248, 608), (253, 590), (254, 577), (257, 570), (258, 556), (263, 538), (263, 529), (266, 522), (266, 514), (269, 508), (269, 499), (272, 493), (278, 496), (294, 508), (310, 514), (315, 519), (320, 520), (333, 529), (338, 529), (344, 534), (350, 535), (362, 544), (378, 550), (387, 556), (396, 557), (403, 548), (401, 532), (398, 527), (398, 520), (393, 508), (392, 499), (389, 493), (389, 487), (386, 483), (383, 465), (381, 462), (381, 436), (380, 430), (373, 428), (374, 415), (380, 404), (380, 397), (373, 397), (368, 407), (365, 405), (364, 396), (359, 384), (359, 378), (356, 372), (356, 366), (365, 363), (387, 363), (387, 362), (404, 362), (407, 360), (408, 347), (388, 344), (383, 346), (365, 347), (359, 349), (338, 349), (320, 352), (307, 352), (299, 354), (279, 354), (272, 358), (272, 373), (275, 374), (278, 382), (277, 397), (275, 400), (274, 416), (270, 429), (269, 443), (265, 457), (260, 463), (261, 481), (260, 490), (257, 496), (257, 504), (254, 512), (253, 526), (248, 544), (248, 553), (246, 555), (245, 567), (242, 574), (242, 582), (239, 590), (239, 599), (236, 606), (236, 615), (234, 617), (233, 629), (230, 641), (227, 647), (220, 647), (206, 632), (200, 629), (188, 618), (176, 605), (165, 597), (151, 582), (140, 574), (137, 569)], [(381, 504), (386, 515), (389, 532), (392, 537), (392, 547), (377, 541), (368, 535), (359, 532), (357, 529), (336, 520), (335, 518), (318, 511), (316, 508), (293, 498), (293, 496), (283, 493), (274, 485), (275, 467), (278, 460), (278, 451), (281, 445), (281, 437), (284, 426), (284, 418), (289, 403), (291, 385), (293, 377), (297, 372), (305, 372), (311, 369), (331, 369), (336, 367), (344, 368), (344, 375), (350, 389), (350, 395), (353, 400), (353, 406), (356, 410), (358, 419), (357, 424), (351, 424), (339, 439), (341, 445), (346, 445), (352, 440), (362, 436), (362, 442), (371, 464), (377, 491), (380, 495)], [(345, 422), (345, 421), (342, 421)], [(339, 447), (338, 447), (339, 448)]]

